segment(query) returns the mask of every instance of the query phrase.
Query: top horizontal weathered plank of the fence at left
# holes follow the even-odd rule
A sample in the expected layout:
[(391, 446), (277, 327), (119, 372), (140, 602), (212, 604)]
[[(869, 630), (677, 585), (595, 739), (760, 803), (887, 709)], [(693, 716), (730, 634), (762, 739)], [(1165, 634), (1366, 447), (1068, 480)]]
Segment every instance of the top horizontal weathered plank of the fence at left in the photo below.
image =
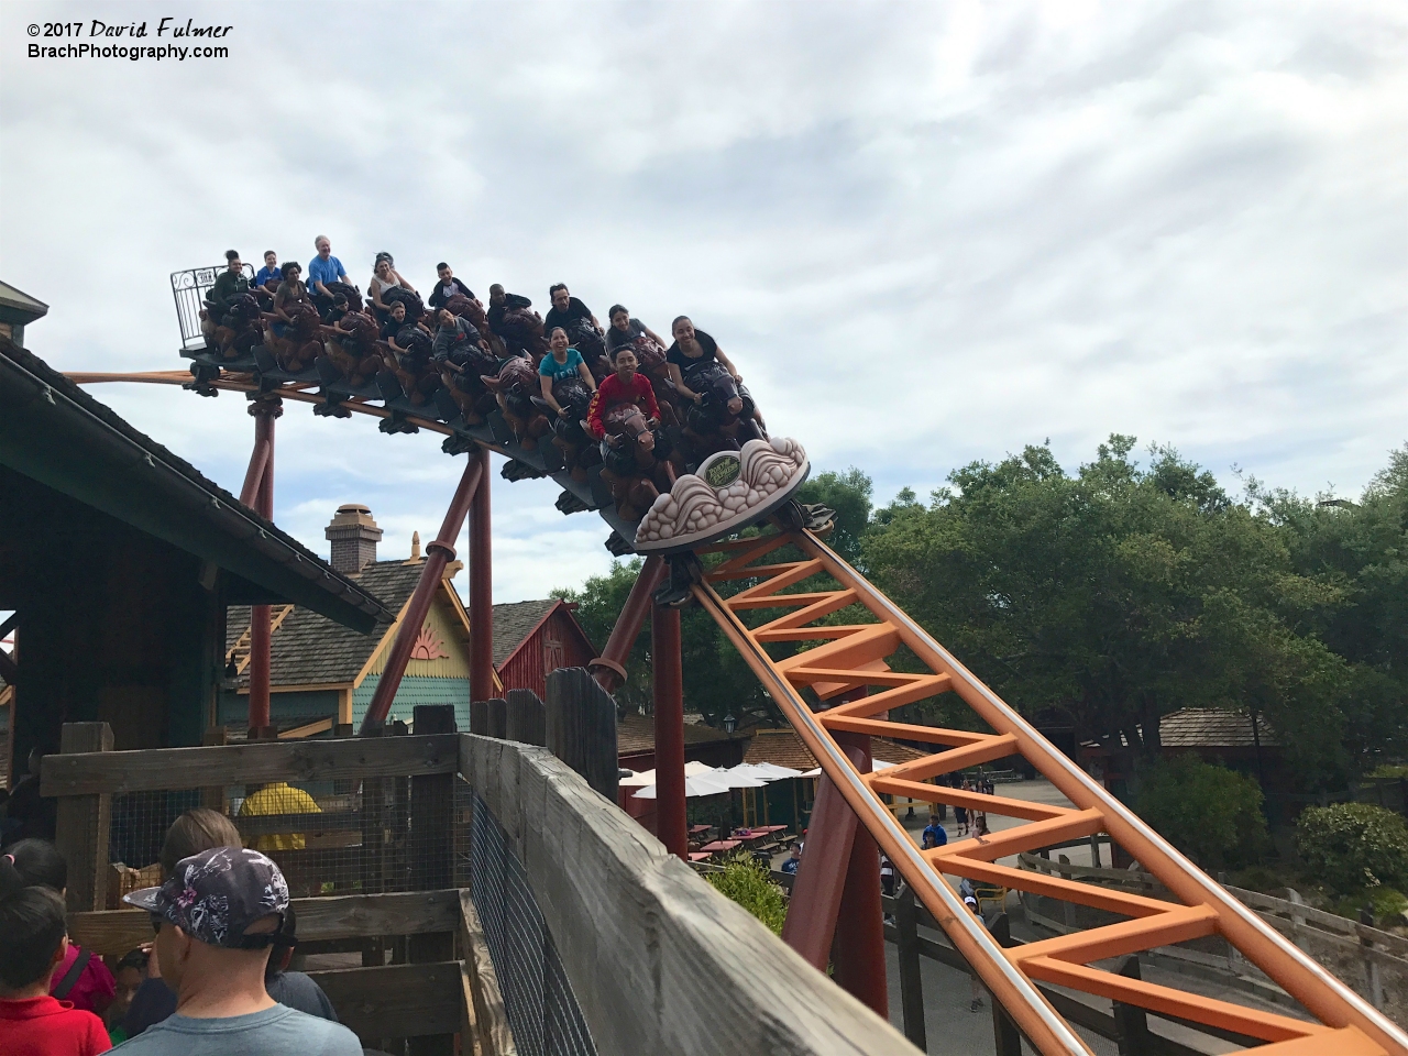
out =
[(453, 773), (458, 759), (459, 741), (453, 734), (84, 752), (45, 756), (39, 788), (44, 796), (86, 796), (334, 777), (407, 777)]

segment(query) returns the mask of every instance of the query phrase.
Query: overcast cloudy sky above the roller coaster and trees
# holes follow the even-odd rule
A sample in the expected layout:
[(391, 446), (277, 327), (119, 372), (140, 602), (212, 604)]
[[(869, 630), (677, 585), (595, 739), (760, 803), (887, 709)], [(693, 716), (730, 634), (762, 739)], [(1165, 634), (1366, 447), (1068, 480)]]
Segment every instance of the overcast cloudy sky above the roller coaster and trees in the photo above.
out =
[[(162, 15), (230, 58), (25, 56)], [(1401, 0), (7, 3), (0, 56), (0, 277), (58, 369), (183, 366), (170, 272), (325, 232), (363, 289), (389, 249), (422, 291), (448, 259), (484, 300), (689, 314), (881, 501), (1110, 432), (1354, 494), (1408, 439)], [(238, 490), (241, 398), (93, 393)], [(327, 553), (363, 501), (398, 556), (460, 466), (289, 406), (276, 520)], [(558, 490), (496, 473), (497, 600), (608, 567)]]

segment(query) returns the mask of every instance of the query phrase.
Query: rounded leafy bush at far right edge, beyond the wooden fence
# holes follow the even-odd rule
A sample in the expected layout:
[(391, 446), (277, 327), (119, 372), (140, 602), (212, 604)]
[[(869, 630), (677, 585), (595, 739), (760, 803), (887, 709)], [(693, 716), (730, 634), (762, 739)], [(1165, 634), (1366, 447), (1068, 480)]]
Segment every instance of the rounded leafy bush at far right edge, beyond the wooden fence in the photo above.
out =
[(1371, 803), (1307, 808), (1295, 822), (1295, 849), (1311, 874), (1339, 894), (1408, 883), (1408, 825)]

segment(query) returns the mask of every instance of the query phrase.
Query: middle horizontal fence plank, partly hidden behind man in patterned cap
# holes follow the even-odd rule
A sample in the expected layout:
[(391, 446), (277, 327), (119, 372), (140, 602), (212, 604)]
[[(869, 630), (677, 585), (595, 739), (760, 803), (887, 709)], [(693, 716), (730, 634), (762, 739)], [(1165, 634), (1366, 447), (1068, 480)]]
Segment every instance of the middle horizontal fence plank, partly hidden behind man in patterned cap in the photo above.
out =
[[(460, 921), (456, 890), (294, 898), (293, 911), (298, 918), (298, 939), (304, 942), (365, 935), (453, 934)], [(152, 941), (152, 924), (142, 910), (72, 912), (69, 935), (83, 949), (122, 956)]]

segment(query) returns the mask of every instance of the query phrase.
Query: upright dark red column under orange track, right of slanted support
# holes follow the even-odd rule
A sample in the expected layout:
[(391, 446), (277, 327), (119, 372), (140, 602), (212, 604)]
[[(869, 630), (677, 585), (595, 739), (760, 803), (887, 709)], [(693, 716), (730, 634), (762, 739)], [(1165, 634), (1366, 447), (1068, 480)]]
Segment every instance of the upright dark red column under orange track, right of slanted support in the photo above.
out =
[[(859, 753), (860, 773), (870, 773), (870, 738), (865, 734), (836, 734), (836, 743), (852, 759)], [(853, 817), (853, 815), (852, 815)], [(800, 867), (798, 867), (798, 872)], [(884, 915), (880, 908), (880, 850), (865, 826), (856, 825), (850, 842), (846, 883), (836, 914), (836, 983), (874, 1010), (890, 1017), (890, 995), (884, 974)]]

